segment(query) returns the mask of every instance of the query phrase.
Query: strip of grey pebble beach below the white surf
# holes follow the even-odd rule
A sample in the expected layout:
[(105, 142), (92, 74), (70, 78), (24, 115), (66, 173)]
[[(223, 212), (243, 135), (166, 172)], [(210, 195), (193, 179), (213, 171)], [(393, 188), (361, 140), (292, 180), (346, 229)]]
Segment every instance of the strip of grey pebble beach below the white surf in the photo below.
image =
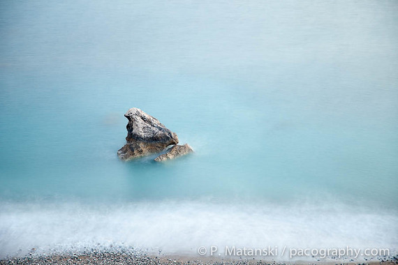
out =
[(28, 257), (2, 258), (0, 264), (186, 264), (186, 265), (277, 265), (277, 264), (298, 264), (298, 265), (392, 265), (398, 264), (398, 257), (374, 257), (367, 261), (353, 261), (353, 259), (336, 259), (325, 261), (275, 261), (272, 259), (258, 259), (255, 257), (209, 257), (209, 256), (184, 256), (184, 255), (147, 255), (126, 252), (92, 252), (73, 255), (31, 255)]

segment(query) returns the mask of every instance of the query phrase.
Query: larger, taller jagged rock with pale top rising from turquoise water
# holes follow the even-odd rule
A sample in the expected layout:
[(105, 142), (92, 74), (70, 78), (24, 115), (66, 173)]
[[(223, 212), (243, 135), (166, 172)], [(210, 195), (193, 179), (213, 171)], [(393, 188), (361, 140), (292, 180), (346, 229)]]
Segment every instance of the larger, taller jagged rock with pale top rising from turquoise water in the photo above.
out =
[(136, 107), (128, 109), (124, 116), (128, 119), (127, 143), (117, 151), (117, 156), (121, 160), (159, 153), (169, 145), (178, 144), (175, 132), (141, 109)]

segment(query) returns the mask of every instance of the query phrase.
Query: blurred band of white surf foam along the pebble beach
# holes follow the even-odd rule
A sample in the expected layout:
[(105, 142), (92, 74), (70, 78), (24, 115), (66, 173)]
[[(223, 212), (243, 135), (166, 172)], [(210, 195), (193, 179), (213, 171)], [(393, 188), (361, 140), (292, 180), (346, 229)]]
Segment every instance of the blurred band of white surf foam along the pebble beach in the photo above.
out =
[(200, 246), (396, 248), (398, 217), (346, 206), (139, 202), (6, 204), (0, 257), (141, 248), (196, 255)]

